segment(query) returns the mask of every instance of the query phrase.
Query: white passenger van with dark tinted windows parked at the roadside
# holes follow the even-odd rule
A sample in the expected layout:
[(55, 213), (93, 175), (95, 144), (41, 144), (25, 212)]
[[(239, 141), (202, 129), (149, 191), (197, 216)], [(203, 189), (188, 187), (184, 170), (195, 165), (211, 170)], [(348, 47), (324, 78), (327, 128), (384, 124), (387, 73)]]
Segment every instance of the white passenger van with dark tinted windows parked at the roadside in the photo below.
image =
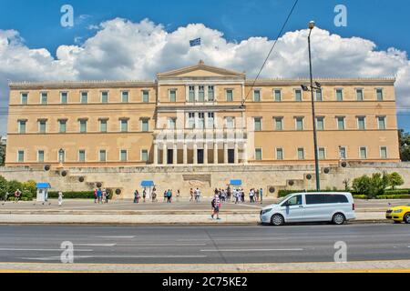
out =
[(282, 226), (293, 222), (332, 222), (343, 225), (355, 219), (351, 193), (305, 192), (282, 197), (277, 204), (261, 210), (261, 223)]

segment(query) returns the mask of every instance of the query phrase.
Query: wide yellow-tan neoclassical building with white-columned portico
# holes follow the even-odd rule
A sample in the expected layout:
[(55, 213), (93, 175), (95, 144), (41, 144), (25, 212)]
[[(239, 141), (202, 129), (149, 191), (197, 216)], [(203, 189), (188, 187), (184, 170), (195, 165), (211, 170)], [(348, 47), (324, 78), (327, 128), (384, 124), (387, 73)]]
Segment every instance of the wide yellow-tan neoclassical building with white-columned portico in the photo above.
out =
[[(316, 81), (322, 163), (400, 161), (395, 79)], [(203, 62), (149, 82), (10, 83), (5, 166), (312, 164), (302, 84)]]

